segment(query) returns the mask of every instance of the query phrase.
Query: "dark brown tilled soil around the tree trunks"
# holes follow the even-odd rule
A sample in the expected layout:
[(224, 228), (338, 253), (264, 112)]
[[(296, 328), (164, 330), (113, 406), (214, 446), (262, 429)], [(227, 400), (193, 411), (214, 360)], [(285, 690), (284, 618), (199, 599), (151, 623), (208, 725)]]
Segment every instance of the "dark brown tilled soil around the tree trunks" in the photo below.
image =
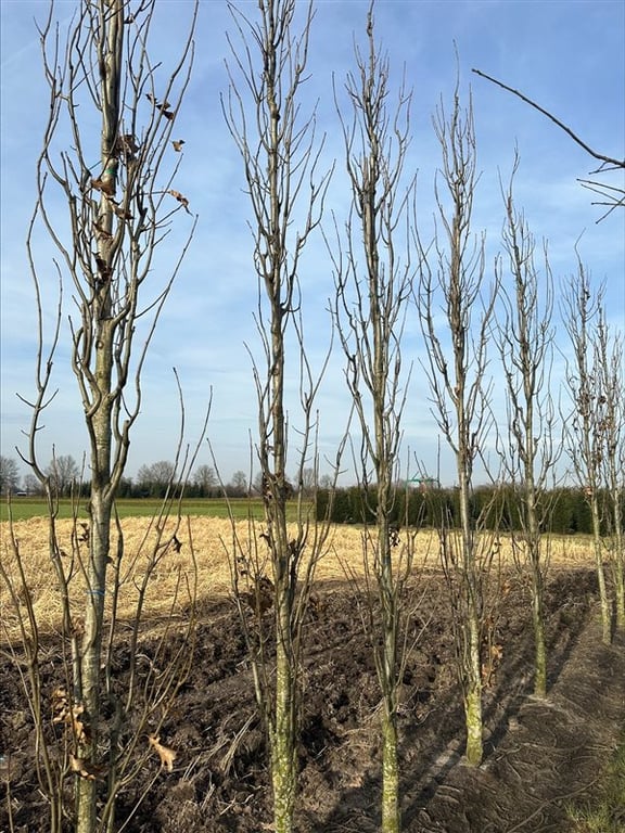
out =
[[(404, 830), (410, 833), (564, 833), (567, 807), (592, 793), (625, 727), (625, 644), (601, 645), (591, 571), (554, 573), (548, 586), (550, 691), (531, 696), (533, 638), (518, 581), (496, 618), (502, 657), (485, 691), (486, 754), (462, 759), (462, 713), (445, 588), (421, 577), (401, 684), (399, 730)], [(270, 627), (270, 615), (267, 617)], [(379, 688), (370, 643), (349, 587), (320, 588), (308, 626), (298, 833), (378, 831)], [(150, 655), (150, 641), (143, 645)], [(51, 688), (53, 649), (42, 667)], [(124, 655), (116, 683), (124, 685)], [(0, 657), (0, 754), (16, 833), (49, 830), (34, 767), (33, 720), (9, 657)], [(227, 601), (203, 605), (194, 662), (161, 742), (177, 751), (173, 772), (149, 757), (119, 797), (118, 828), (145, 785), (153, 789), (124, 828), (132, 833), (258, 833), (271, 810), (263, 732), (241, 627)], [(74, 776), (67, 776), (67, 784)], [(8, 795), (9, 793), (7, 793)], [(8, 804), (0, 831), (9, 830)], [(67, 822), (67, 831), (72, 824)], [(624, 818), (625, 830), (625, 818)]]

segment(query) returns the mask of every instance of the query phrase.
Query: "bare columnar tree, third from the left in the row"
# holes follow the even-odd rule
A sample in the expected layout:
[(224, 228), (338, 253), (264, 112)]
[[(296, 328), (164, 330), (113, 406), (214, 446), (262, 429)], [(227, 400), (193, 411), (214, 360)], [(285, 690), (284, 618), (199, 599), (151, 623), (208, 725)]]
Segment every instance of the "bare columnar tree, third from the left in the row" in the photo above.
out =
[[(401, 415), (408, 373), (401, 367), (401, 334), (413, 292), (410, 217), (414, 179), (404, 168), (409, 143), (410, 93), (393, 94), (388, 57), (374, 39), (372, 7), (367, 48), (356, 47), (356, 71), (345, 90), (352, 115), (342, 112), (352, 206), (333, 255), (334, 313), (347, 360), (346, 381), (361, 433), (357, 459), (365, 522), (363, 558), (369, 626), (382, 692), (382, 831), (397, 833), (399, 807), (398, 689), (405, 652), (404, 589), (411, 567), (410, 538), (399, 540), (394, 512), (399, 475)], [(341, 238), (344, 242), (341, 242)], [(362, 248), (360, 249), (360, 243)], [(401, 257), (399, 248), (404, 247)], [(368, 517), (375, 523), (369, 526)], [(374, 623), (379, 607), (379, 621)]]

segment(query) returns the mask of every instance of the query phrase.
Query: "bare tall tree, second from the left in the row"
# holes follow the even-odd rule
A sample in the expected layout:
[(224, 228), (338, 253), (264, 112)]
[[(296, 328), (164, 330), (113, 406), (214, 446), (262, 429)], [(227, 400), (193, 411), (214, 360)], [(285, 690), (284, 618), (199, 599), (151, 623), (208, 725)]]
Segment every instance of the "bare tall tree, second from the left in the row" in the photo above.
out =
[[(306, 467), (315, 467), (317, 479), (314, 402), (319, 375), (312, 374), (304, 346), (298, 269), (319, 222), (328, 175), (317, 176), (321, 149), (315, 139), (315, 115), (305, 116), (299, 102), (311, 4), (259, 0), (257, 20), (230, 8), (240, 46), (231, 41), (230, 91), (224, 113), (243, 159), (252, 204), (256, 325), (263, 360), (252, 349), (250, 355), (258, 400), (255, 456), (265, 507), (264, 528), (258, 529), (251, 518), (246, 542), (239, 540), (233, 524), (232, 549), (238, 553), (233, 581), (267, 733), (273, 829), (289, 833), (297, 787), (303, 625), (327, 535), (327, 527), (315, 524), (312, 503), (301, 488)], [(299, 14), (301, 29), (295, 34)], [(292, 353), (288, 344), (294, 345)], [(302, 424), (297, 426), (295, 463), (296, 521), (290, 528), (285, 381), (291, 357), (294, 372), (299, 374)], [(269, 610), (275, 617), (275, 644), (263, 621)]]

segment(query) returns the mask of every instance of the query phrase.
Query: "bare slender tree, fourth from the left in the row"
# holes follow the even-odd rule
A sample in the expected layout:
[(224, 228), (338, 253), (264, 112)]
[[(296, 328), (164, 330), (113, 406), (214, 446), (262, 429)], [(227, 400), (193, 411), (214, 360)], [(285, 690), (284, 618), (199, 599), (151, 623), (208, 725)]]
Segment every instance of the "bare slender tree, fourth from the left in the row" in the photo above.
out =
[[(479, 765), (483, 755), (481, 655), (488, 620), (485, 582), (493, 548), (479, 535), (481, 524), (472, 516), (471, 496), (473, 467), (490, 424), (486, 346), (498, 287), (495, 282), (484, 293), (484, 238), (474, 238), (471, 231), (475, 132), (471, 100), (463, 111), (458, 85), (451, 112), (447, 116), (441, 104), (434, 128), (443, 151), (445, 191), (438, 178), (435, 184), (442, 230), (434, 254), (424, 253), (418, 304), (435, 416), (456, 459), (460, 530), (449, 529), (448, 521), (441, 520), (441, 551), (451, 599), (467, 760)], [(439, 307), (444, 328), (438, 324)]]

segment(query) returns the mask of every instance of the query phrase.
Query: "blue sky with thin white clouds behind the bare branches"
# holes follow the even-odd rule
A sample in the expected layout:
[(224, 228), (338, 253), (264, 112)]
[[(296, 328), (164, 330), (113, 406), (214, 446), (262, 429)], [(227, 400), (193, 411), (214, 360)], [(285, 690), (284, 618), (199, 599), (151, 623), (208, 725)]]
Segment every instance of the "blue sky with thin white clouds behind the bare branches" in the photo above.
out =
[[(256, 13), (254, 1), (241, 3)], [(332, 79), (339, 88), (353, 69), (353, 42), (362, 42), (368, 2), (321, 0), (312, 25), (303, 107), (318, 102), (318, 131), (326, 133), (322, 161), (336, 170), (327, 200), (342, 221), (347, 205), (343, 148), (334, 104)], [(34, 18), (42, 20), (44, 2), (0, 0), (1, 10), (1, 451), (16, 457), (28, 410), (15, 396), (34, 390), (35, 310), (26, 259), (25, 239), (35, 201), (34, 166), (41, 148), (47, 112), (39, 43)], [(56, 4), (61, 28), (67, 26), (75, 3)], [(153, 31), (154, 55), (174, 60), (191, 13), (187, 0), (160, 0)], [(184, 159), (176, 188), (188, 196), (200, 216), (197, 230), (180, 275), (169, 296), (144, 370), (142, 412), (135, 426), (128, 474), (143, 463), (173, 459), (179, 432), (177, 392), (171, 368), (178, 371), (186, 401), (186, 437), (201, 434), (212, 394), (207, 436), (226, 480), (235, 470), (250, 469), (250, 437), (256, 428), (255, 394), (245, 345), (258, 345), (253, 320), (256, 279), (251, 210), (243, 194), (241, 161), (225, 125), (219, 95), (227, 91), (224, 60), (229, 50), (225, 33), (234, 31), (221, 0), (201, 2), (193, 77), (177, 129), (184, 138)], [(487, 274), (500, 247), (502, 204), (499, 176), (508, 179), (514, 148), (521, 167), (515, 180), (519, 207), (525, 212), (537, 241), (549, 244), (557, 286), (576, 269), (574, 246), (596, 281), (607, 282), (611, 323), (625, 324), (625, 212), (597, 223), (601, 209), (576, 181), (586, 178), (594, 161), (562, 131), (521, 101), (471, 74), (471, 67), (521, 89), (559, 116), (597, 151), (625, 156), (625, 3), (623, 0), (378, 0), (378, 38), (390, 53), (392, 84), (401, 73), (413, 90), (412, 142), (407, 167), (418, 171), (418, 213), (422, 232), (432, 226), (433, 181), (441, 164), (432, 129), (432, 115), (443, 99), (446, 105), (456, 81), (455, 43), (459, 54), (464, 101), (473, 93), (477, 138), (477, 166), (482, 171), (475, 197), (474, 230), (487, 235)], [(623, 183), (622, 174), (612, 183)], [(167, 241), (166, 268), (171, 252), (182, 242), (180, 232)], [(51, 248), (38, 241), (40, 269), (53, 293), (48, 269)], [(158, 262), (158, 260), (156, 261)], [(50, 277), (48, 277), (50, 272)], [(330, 338), (328, 298), (333, 292), (332, 269), (321, 235), (311, 239), (302, 262), (307, 348), (320, 367)], [(49, 296), (53, 297), (52, 294)], [(64, 295), (64, 317), (71, 312), (71, 291)], [(406, 361), (416, 366), (407, 399), (405, 450), (428, 471), (436, 465), (436, 427), (430, 414), (428, 387), (419, 370), (421, 345), (414, 311), (409, 312)], [(67, 335), (66, 329), (64, 330)], [(563, 328), (557, 337), (563, 350)], [(58, 454), (80, 460), (87, 448), (76, 383), (61, 345), (53, 386), (59, 394), (43, 420), (39, 453), (47, 463), (52, 446)], [(560, 362), (561, 367), (561, 362)], [(320, 454), (332, 458), (348, 410), (343, 357), (332, 354), (319, 393)], [(494, 373), (497, 374), (496, 368)], [(291, 389), (296, 393), (296, 380)], [(291, 400), (291, 424), (297, 427), (296, 398)], [(293, 445), (296, 437), (293, 438)], [(199, 463), (212, 464), (204, 444)], [(323, 464), (321, 465), (323, 470)], [(443, 480), (452, 483), (447, 456)]]

